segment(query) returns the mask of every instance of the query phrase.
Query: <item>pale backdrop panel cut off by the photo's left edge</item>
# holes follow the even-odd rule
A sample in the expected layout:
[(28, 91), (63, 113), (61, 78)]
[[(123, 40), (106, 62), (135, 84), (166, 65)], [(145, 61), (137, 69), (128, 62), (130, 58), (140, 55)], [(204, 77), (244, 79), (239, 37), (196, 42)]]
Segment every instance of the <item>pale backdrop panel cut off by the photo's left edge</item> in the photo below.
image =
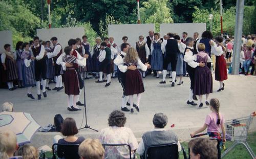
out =
[(9, 43), (11, 45), (11, 50), (13, 51), (12, 46), (12, 32), (9, 30), (0, 31), (0, 54), (5, 51), (4, 45)]

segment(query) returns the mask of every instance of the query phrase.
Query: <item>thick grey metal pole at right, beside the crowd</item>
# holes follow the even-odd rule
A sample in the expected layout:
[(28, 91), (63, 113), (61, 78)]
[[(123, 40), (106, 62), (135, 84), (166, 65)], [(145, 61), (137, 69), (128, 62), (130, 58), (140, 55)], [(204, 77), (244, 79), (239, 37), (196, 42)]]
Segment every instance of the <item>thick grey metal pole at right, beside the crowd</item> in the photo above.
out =
[(244, 0), (237, 0), (236, 26), (234, 28), (234, 53), (232, 59), (232, 75), (239, 74), (240, 50), (244, 18)]

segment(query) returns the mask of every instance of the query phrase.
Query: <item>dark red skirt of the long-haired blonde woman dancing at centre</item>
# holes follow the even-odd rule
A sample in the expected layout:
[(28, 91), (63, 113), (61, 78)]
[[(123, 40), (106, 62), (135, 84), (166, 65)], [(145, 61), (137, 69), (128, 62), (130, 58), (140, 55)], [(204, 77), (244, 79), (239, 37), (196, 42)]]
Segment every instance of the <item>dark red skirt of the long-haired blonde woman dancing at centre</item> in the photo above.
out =
[(125, 96), (140, 94), (144, 90), (139, 70), (127, 70), (125, 73)]

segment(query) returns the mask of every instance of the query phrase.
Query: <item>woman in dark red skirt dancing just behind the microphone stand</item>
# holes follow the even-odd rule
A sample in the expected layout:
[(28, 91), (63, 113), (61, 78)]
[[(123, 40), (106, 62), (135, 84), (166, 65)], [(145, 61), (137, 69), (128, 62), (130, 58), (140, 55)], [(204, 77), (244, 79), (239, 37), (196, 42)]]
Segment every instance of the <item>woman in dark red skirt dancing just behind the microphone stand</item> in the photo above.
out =
[(77, 111), (81, 110), (76, 106), (76, 96), (79, 95), (79, 80), (77, 73), (75, 69), (75, 65), (81, 65), (86, 66), (86, 60), (78, 60), (74, 55), (72, 51), (72, 47), (66, 47), (64, 49), (65, 55), (62, 56), (62, 61), (65, 63), (73, 64), (72, 67), (63, 67), (63, 70), (65, 70), (65, 94), (68, 95), (68, 110), (69, 111)]

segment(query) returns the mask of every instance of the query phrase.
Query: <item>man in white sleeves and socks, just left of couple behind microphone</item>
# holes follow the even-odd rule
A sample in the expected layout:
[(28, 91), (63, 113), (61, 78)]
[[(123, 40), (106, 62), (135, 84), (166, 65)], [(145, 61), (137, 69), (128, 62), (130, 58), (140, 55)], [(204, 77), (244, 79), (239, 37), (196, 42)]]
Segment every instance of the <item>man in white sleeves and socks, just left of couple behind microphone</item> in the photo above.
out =
[(58, 39), (56, 37), (52, 37), (51, 41), (52, 41), (54, 48), (53, 48), (53, 52), (47, 53), (47, 57), (53, 58), (53, 62), (54, 62), (54, 76), (56, 76), (56, 86), (52, 90), (59, 91), (59, 90), (63, 89), (64, 87), (62, 85), (62, 76), (60, 74), (61, 65), (57, 64), (56, 61), (57, 61), (58, 57), (62, 54), (62, 47), (58, 43)]

